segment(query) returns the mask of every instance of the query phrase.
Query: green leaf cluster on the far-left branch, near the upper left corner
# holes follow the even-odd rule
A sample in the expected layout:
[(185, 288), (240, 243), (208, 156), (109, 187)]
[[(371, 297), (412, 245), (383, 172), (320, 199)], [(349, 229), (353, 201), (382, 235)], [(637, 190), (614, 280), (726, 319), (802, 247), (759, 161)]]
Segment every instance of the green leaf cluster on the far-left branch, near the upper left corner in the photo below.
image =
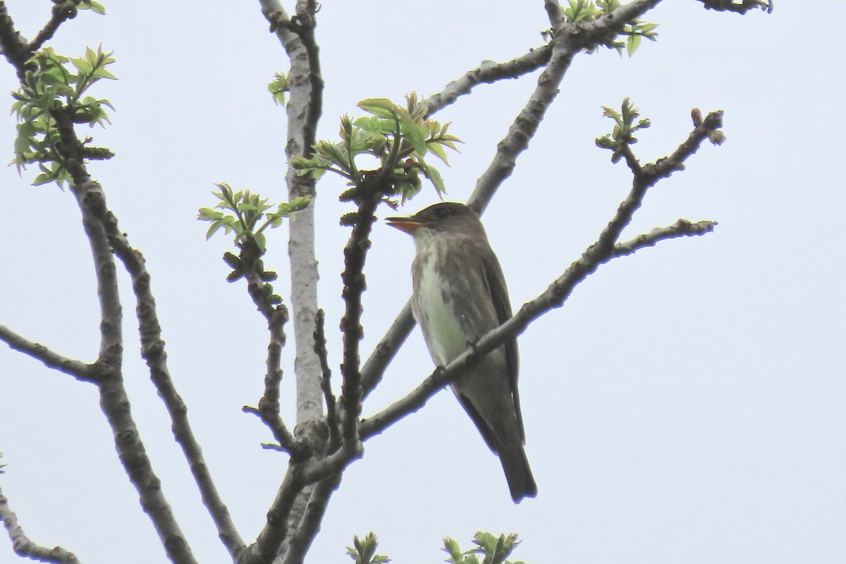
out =
[[(102, 8), (96, 3), (81, 4), (80, 8)], [(54, 181), (62, 186), (70, 174), (59, 150), (56, 116), (63, 112), (74, 123), (88, 123), (91, 127), (111, 123), (106, 108), (113, 110), (112, 104), (86, 93), (100, 79), (117, 79), (106, 68), (114, 63), (114, 58), (111, 52), (102, 52), (101, 47), (96, 51), (88, 47), (79, 58), (63, 57), (51, 47), (45, 47), (35, 52), (27, 63), (30, 68), (20, 88), (12, 93), (12, 112), (19, 121), (13, 162), (18, 172), (28, 164), (38, 163), (41, 174), (36, 176), (35, 186)], [(114, 156), (112, 151), (88, 146), (89, 143), (91, 138), (82, 143), (85, 158), (102, 160)]]

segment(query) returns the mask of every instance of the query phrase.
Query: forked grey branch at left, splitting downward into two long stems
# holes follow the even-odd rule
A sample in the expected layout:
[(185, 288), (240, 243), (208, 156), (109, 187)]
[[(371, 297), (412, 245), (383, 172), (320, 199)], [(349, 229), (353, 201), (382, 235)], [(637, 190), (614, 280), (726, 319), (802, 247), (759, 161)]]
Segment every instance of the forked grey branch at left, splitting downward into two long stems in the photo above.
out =
[(150, 289), (150, 275), (146, 271), (143, 255), (129, 245), (126, 235), (118, 228), (118, 220), (108, 211), (105, 194), (99, 184), (91, 182), (81, 156), (81, 143), (74, 132), (74, 123), (67, 108), (52, 110), (62, 139), (59, 150), (64, 164), (73, 178), (73, 192), (83, 211), (85, 233), (97, 263), (96, 274), (102, 304), (102, 338), (100, 359), (96, 370), (101, 406), (115, 435), (115, 446), (121, 463), (140, 495), (141, 507), (150, 516), (162, 540), (162, 545), (173, 562), (195, 564), (190, 546), (173, 517), (171, 507), (159, 487), (159, 479), (151, 468), (143, 443), (140, 441), (135, 421), (129, 410), (121, 374), (122, 337), (120, 333), (120, 303), (111, 252), (118, 255), (132, 277), (137, 299), (136, 313), (141, 337), (141, 356), (150, 368), (151, 380), (157, 386), (162, 401), (173, 421), (173, 434), (182, 446), (191, 472), (201, 490), (203, 502), (209, 508), (218, 532), (233, 556), (243, 550), (244, 543), (235, 530), (225, 505), (220, 500), (208, 472), (199, 444), (190, 430), (187, 409), (173, 387), (167, 366), (167, 354), (161, 336), (156, 302)]

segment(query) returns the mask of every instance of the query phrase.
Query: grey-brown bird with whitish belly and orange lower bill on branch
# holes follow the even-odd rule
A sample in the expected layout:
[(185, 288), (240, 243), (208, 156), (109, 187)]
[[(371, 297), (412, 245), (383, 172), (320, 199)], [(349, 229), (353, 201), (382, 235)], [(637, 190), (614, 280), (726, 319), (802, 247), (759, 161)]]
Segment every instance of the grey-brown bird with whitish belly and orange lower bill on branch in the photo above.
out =
[[(414, 216), (388, 217), (387, 223), (415, 238), (411, 304), (435, 364), (446, 366), (511, 317), (503, 269), (475, 211), (444, 202)], [(517, 364), (517, 340), (512, 338), (452, 385), (503, 464), (514, 502), (537, 495), (523, 448)]]

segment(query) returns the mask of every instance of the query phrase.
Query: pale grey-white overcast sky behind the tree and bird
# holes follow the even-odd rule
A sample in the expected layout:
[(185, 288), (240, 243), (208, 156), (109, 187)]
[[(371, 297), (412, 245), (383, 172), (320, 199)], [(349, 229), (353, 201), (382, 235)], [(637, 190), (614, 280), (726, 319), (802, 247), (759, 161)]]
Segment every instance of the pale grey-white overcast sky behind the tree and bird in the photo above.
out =
[[(31, 38), (52, 3), (9, 0)], [(824, 7), (823, 7), (824, 5)], [(195, 220), (215, 182), (284, 200), (285, 115), (266, 90), (288, 68), (257, 2), (107, 2), (62, 26), (52, 47), (114, 50), (113, 127), (96, 144), (118, 153), (90, 167), (153, 276), (170, 368), (211, 471), (245, 539), (255, 539), (287, 466), (261, 450), (271, 437), (241, 413), (261, 396), (266, 329), (243, 283), (228, 284), (223, 237)], [(323, 3), (317, 38), (326, 79), (319, 135), (367, 97), (430, 95), (482, 60), (542, 45), (541, 0)], [(365, 445), (344, 474), (307, 559), (347, 561), (353, 534), (375, 531), (398, 562), (442, 561), (442, 537), (517, 532), (514, 558), (541, 562), (839, 562), (846, 554), (846, 266), (843, 21), (846, 3), (777, 2), (773, 14), (706, 12), (662, 3), (661, 24), (631, 59), (577, 57), (530, 150), (484, 222), (515, 309), (577, 259), (630, 187), (623, 163), (594, 139), (601, 106), (630, 96), (652, 128), (642, 162), (691, 129), (690, 109), (725, 111), (727, 142), (703, 145), (687, 170), (659, 183), (624, 234), (678, 218), (715, 233), (663, 242), (614, 260), (562, 309), (519, 339), (526, 452), (539, 496), (514, 506), (502, 468), (448, 392)], [(10, 67), (0, 90), (14, 90)], [(437, 114), (464, 140), (442, 167), (449, 198), (466, 200), (536, 74), (477, 88)], [(11, 104), (11, 99), (8, 100)], [(12, 158), (14, 119), (0, 123)], [(30, 187), (0, 170), (0, 323), (58, 352), (96, 357), (99, 318), (91, 254), (68, 192)], [(320, 304), (327, 330), (342, 314), (343, 189), (318, 184)], [(426, 189), (413, 213), (437, 201)], [(382, 215), (385, 215), (383, 212)], [(272, 233), (268, 268), (287, 294), (287, 233)], [(369, 353), (409, 296), (413, 244), (378, 223), (367, 271)], [(125, 376), (154, 468), (204, 564), (226, 562), (137, 356), (127, 277)], [(293, 333), (293, 327), (288, 327)], [(333, 367), (338, 335), (330, 337)], [(293, 423), (293, 347), (283, 407)], [(432, 370), (415, 329), (365, 415)], [(338, 370), (335, 370), (338, 374)], [(336, 382), (337, 383), (337, 382)], [(0, 347), (0, 477), (21, 525), (41, 545), (85, 564), (149, 564), (165, 556), (115, 456), (93, 386)], [(118, 556), (119, 555), (119, 556)], [(127, 556), (131, 555), (131, 556)], [(15, 562), (0, 541), (0, 562)]]

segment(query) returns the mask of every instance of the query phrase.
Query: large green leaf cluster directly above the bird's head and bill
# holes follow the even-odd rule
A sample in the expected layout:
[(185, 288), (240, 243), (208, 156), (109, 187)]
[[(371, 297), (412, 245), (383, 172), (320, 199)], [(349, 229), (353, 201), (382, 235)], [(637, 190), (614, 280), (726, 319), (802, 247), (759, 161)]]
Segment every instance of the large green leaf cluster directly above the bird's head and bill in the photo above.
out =
[[(385, 194), (398, 194), (403, 201), (420, 192), (421, 177), (428, 178), (438, 194), (446, 192), (440, 172), (425, 157), (431, 153), (449, 164), (445, 148), (458, 151), (455, 144), (461, 142), (448, 134), (449, 123), (441, 125), (427, 119), (426, 102), (418, 100), (413, 93), (406, 96), (405, 107), (386, 98), (362, 100), (358, 106), (371, 116), (354, 121), (344, 116), (340, 142), (321, 140), (310, 158), (295, 157), (291, 166), (300, 174), (311, 172), (315, 178), (327, 171), (347, 178), (353, 189), (342, 194), (344, 201), (354, 200), (355, 190), (374, 176), (380, 176), (390, 187)], [(376, 170), (362, 170), (361, 156), (375, 159)], [(386, 201), (396, 205), (392, 200)]]

